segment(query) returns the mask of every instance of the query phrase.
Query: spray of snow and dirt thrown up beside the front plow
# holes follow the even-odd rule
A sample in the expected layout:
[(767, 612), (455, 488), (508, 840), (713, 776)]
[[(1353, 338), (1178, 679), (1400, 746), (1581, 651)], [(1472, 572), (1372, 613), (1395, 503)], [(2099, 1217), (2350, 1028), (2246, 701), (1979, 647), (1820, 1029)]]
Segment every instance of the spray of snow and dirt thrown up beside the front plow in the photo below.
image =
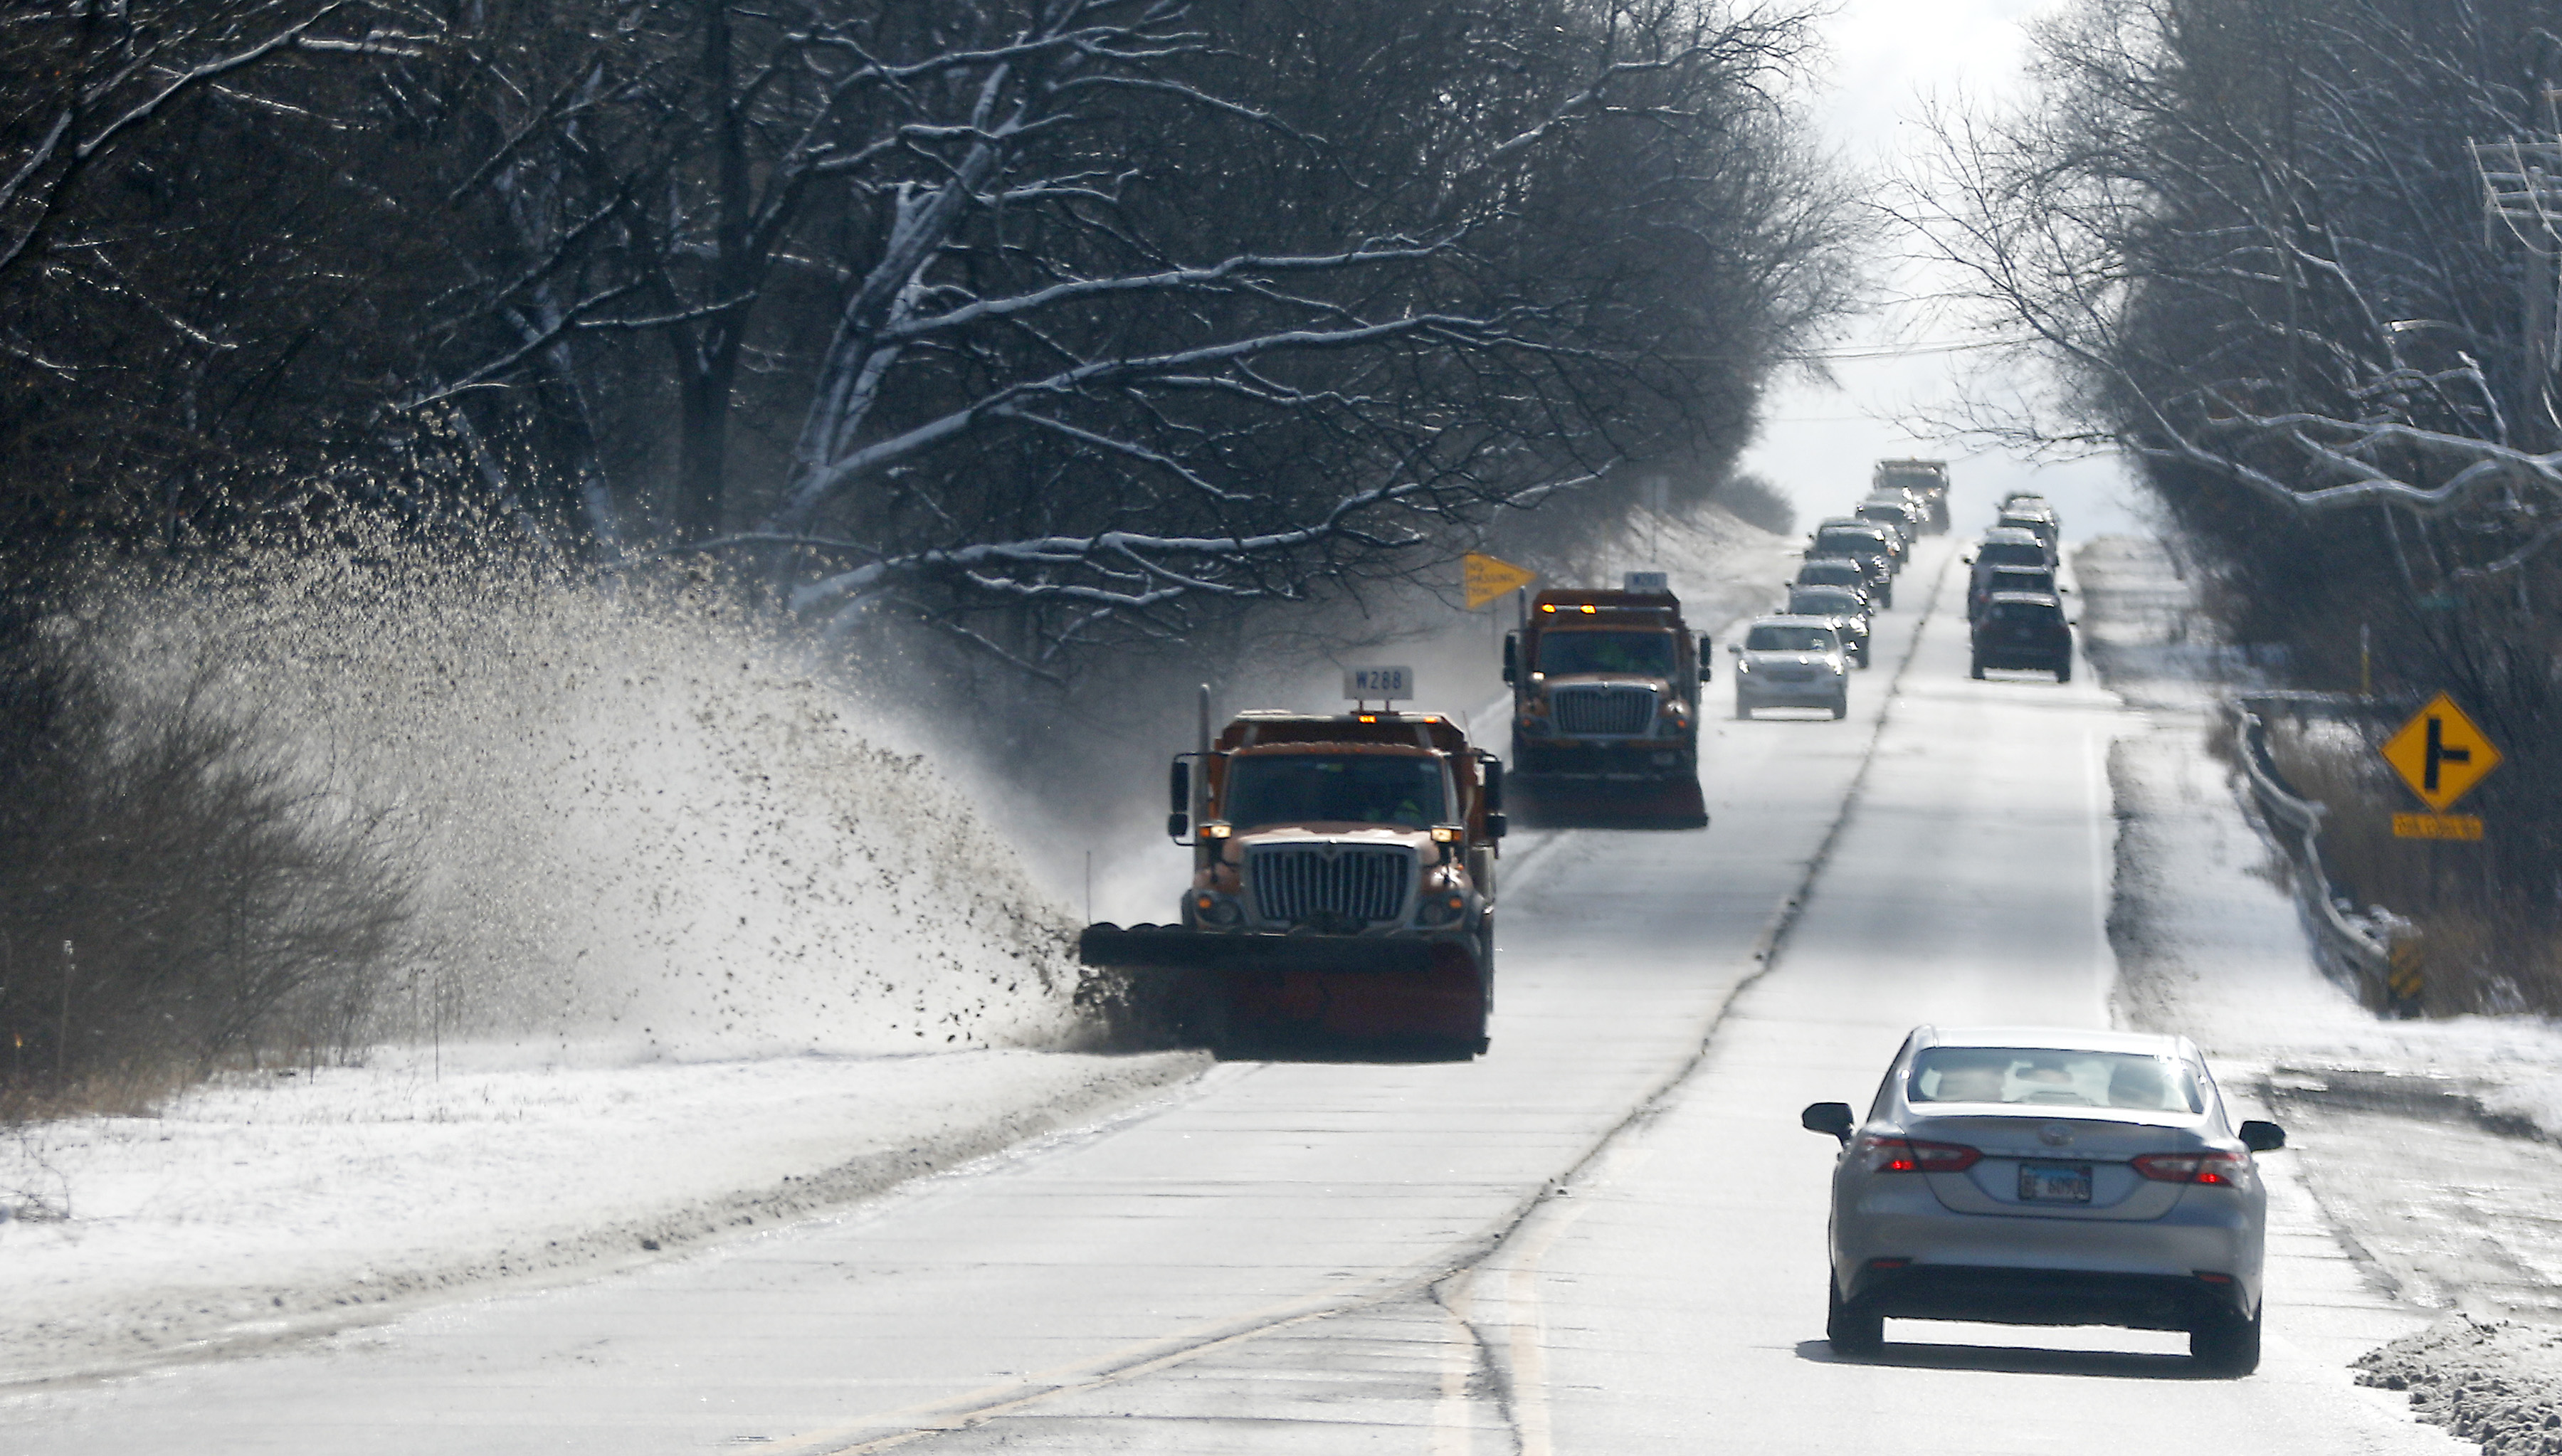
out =
[(213, 692), (397, 825), (425, 951), (392, 1033), (628, 1061), (1076, 1028), (1073, 923), (1009, 838), (892, 713), (684, 592), (389, 549), (105, 600), (133, 692)]

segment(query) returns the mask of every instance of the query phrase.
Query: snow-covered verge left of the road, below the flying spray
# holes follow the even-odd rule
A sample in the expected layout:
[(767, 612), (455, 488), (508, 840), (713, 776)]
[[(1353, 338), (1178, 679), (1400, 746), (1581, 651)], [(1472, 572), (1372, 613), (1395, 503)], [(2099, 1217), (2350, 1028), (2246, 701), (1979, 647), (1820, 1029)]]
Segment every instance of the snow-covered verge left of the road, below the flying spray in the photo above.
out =
[[(371, 1323), (771, 1228), (1191, 1077), (1196, 1054), (520, 1069), (459, 1046), (0, 1136), (0, 1382)], [(494, 1066), (474, 1066), (494, 1064)]]

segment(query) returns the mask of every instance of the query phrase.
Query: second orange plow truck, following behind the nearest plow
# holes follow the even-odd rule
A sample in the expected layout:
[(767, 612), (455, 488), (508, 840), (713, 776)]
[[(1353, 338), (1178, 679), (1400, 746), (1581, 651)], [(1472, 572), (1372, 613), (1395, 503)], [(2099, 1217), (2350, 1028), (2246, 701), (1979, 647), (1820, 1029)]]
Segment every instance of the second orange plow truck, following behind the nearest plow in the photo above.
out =
[(1699, 828), (1709, 641), (1660, 579), (1632, 577), (1637, 590), (1540, 592), (1504, 638), (1517, 795), (1555, 823)]

